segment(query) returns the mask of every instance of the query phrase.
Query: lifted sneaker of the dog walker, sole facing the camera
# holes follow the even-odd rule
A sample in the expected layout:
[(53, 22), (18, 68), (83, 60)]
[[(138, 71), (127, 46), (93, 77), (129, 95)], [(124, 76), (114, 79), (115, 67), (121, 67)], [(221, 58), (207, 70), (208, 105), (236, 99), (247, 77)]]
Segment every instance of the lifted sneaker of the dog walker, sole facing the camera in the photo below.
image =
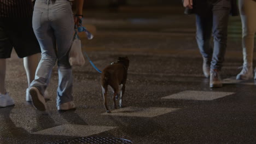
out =
[(30, 88), (30, 95), (33, 106), (40, 111), (46, 110), (45, 99), (36, 87)]

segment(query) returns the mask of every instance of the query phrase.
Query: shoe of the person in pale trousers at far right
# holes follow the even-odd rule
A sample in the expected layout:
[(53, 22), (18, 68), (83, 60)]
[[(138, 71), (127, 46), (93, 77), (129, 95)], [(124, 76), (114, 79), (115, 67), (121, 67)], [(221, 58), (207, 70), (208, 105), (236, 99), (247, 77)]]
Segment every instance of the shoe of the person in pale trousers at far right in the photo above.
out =
[[(243, 69), (241, 72), (236, 76), (237, 80), (249, 80), (253, 78), (253, 69), (252, 66), (243, 65)], [(255, 77), (254, 77), (255, 79)]]

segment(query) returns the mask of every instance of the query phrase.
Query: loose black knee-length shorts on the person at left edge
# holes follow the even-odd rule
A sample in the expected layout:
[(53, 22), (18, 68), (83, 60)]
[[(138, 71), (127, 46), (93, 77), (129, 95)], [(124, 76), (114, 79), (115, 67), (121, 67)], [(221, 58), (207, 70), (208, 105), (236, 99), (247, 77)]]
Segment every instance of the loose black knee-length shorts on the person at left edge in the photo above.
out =
[(0, 18), (0, 58), (10, 58), (13, 47), (20, 58), (41, 52), (32, 17)]

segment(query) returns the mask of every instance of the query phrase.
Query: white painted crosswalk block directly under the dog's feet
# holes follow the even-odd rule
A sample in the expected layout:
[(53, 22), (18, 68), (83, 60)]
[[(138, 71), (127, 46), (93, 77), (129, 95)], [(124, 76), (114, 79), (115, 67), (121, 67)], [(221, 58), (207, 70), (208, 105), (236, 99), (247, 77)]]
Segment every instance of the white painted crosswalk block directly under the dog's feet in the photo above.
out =
[(179, 109), (168, 107), (125, 107), (122, 109), (112, 110), (112, 113), (102, 113), (101, 115), (128, 117), (156, 117), (176, 110)]

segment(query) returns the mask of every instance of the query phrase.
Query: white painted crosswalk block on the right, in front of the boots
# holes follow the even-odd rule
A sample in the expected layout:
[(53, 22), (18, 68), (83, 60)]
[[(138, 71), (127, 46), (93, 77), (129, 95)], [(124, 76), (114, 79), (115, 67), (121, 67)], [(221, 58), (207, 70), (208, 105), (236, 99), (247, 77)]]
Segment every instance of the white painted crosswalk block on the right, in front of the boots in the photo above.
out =
[(205, 91), (184, 91), (168, 95), (162, 99), (186, 99), (186, 100), (214, 100), (234, 93), (231, 92), (205, 92)]

